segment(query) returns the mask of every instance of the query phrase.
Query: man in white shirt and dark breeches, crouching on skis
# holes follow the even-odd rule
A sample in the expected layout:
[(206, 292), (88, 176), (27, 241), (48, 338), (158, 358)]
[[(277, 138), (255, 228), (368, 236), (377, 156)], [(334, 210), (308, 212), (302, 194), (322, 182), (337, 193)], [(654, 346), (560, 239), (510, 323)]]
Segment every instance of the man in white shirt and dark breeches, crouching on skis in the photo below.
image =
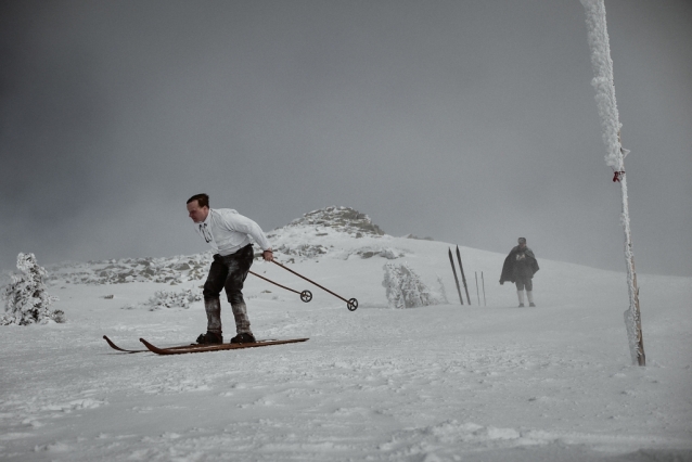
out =
[(235, 335), (231, 343), (254, 343), (249, 329), (247, 307), (243, 299), (243, 282), (253, 265), (254, 252), (251, 236), (261, 247), (262, 258), (272, 261), (271, 245), (259, 226), (232, 208), (209, 208), (209, 196), (196, 194), (188, 200), (188, 215), (195, 230), (215, 252), (214, 261), (204, 283), (204, 308), (207, 313), (207, 332), (197, 337), (198, 344), (221, 344), (221, 301), (226, 290), (235, 318)]

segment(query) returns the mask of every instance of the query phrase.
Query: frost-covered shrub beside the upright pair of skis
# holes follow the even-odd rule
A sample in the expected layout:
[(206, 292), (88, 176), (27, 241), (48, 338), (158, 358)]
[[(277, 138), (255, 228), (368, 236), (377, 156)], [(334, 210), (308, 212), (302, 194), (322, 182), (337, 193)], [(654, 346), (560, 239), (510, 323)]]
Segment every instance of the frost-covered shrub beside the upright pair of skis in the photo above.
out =
[(388, 262), (384, 267), (382, 285), (387, 290), (387, 300), (392, 308), (414, 308), (437, 305), (437, 298), (407, 265)]

